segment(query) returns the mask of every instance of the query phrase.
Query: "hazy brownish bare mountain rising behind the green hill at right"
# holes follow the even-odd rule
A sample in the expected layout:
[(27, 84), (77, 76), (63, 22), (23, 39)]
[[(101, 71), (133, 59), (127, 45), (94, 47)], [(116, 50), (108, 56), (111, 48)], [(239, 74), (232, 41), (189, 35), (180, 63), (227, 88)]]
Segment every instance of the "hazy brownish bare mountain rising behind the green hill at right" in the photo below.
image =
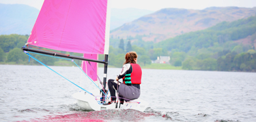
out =
[(256, 7), (208, 7), (202, 10), (165, 8), (120, 26), (111, 31), (111, 37), (136, 41), (136, 36), (143, 36), (143, 41), (159, 42), (255, 14)]

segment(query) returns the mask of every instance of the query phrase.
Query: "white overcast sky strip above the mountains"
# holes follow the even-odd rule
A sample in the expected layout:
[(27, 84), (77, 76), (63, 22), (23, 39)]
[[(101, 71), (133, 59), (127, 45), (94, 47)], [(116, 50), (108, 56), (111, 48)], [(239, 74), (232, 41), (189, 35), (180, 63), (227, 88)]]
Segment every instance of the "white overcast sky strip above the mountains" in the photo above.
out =
[[(0, 3), (26, 4), (40, 9), (44, 0), (0, 0)], [(206, 7), (256, 7), (256, 0), (111, 0), (111, 8), (148, 9), (157, 11), (162, 8), (205, 9)]]

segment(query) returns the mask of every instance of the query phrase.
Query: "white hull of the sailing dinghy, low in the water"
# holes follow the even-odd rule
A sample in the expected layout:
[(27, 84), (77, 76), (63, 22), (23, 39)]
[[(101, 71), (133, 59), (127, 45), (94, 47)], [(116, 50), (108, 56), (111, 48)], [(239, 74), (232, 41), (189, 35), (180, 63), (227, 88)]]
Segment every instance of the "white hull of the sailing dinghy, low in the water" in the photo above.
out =
[[(100, 90), (94, 89), (89, 91), (94, 96), (97, 96), (97, 99), (100, 99)], [(117, 109), (115, 108), (116, 104), (102, 105), (99, 104), (94, 96), (87, 94), (85, 91), (79, 91), (72, 95), (77, 100), (77, 104), (85, 110), (106, 110), (106, 109)], [(148, 103), (143, 100), (131, 100), (129, 102), (124, 102), (121, 104), (120, 108), (122, 109), (134, 109), (143, 112), (148, 106)]]

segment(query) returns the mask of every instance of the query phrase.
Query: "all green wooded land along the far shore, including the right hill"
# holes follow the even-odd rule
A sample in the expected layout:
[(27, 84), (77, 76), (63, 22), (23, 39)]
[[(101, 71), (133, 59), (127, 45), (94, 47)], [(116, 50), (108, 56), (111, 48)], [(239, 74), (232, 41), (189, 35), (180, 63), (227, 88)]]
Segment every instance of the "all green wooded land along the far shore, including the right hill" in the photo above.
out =
[[(20, 47), (26, 43), (28, 35), (0, 35), (0, 63), (15, 62), (16, 64), (38, 64), (21, 52)], [(248, 45), (235, 42), (237, 39), (251, 37)], [(236, 70), (255, 71), (255, 39), (256, 17), (234, 22), (221, 22), (216, 26), (185, 33), (160, 43), (145, 42), (140, 36), (131, 41), (126, 39), (110, 39), (109, 64), (121, 67), (126, 52), (135, 51), (139, 55), (138, 63), (150, 65), (158, 56), (170, 56), (170, 64), (182, 66), (185, 70)], [(61, 52), (75, 56), (83, 56), (70, 52)], [(48, 65), (67, 62), (48, 56), (34, 55)], [(104, 56), (100, 55), (100, 60)], [(76, 61), (80, 63), (79, 61)], [(2, 63), (3, 64), (3, 63)]]

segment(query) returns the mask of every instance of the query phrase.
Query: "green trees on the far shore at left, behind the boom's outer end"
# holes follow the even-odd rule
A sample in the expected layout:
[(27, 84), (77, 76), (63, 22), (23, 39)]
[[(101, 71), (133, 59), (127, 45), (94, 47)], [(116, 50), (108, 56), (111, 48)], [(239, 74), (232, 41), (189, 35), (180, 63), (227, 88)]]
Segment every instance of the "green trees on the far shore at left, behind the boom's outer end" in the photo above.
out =
[[(0, 35), (0, 63), (39, 65), (40, 63), (35, 60), (29, 61), (29, 56), (21, 50), (21, 47), (27, 43), (28, 37), (28, 35), (15, 34)], [(54, 65), (55, 62), (59, 61), (57, 58), (51, 58), (48, 56), (41, 56), (32, 53), (31, 55), (47, 65)], [(82, 54), (80, 54), (80, 56), (82, 56)]]

